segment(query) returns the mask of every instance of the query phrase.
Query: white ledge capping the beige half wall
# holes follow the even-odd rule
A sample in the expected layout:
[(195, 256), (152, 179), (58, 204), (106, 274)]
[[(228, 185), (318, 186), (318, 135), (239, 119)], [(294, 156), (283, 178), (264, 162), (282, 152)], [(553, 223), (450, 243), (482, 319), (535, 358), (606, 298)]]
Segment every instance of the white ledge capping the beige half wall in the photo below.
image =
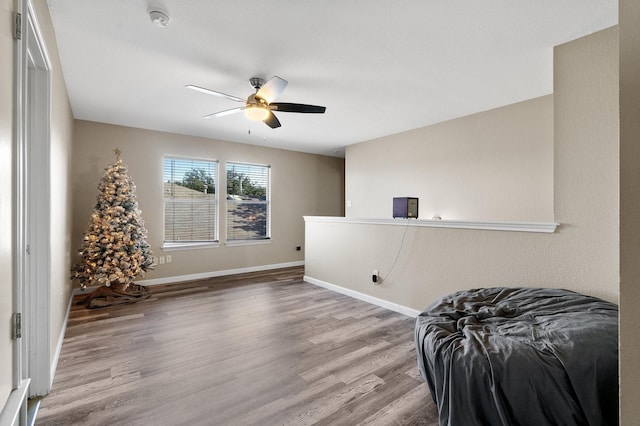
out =
[(479, 222), (433, 219), (357, 219), (336, 216), (304, 216), (305, 222), (354, 223), (390, 226), (423, 226), (429, 228), (482, 229), (487, 231), (542, 232), (552, 234), (560, 226), (556, 222)]

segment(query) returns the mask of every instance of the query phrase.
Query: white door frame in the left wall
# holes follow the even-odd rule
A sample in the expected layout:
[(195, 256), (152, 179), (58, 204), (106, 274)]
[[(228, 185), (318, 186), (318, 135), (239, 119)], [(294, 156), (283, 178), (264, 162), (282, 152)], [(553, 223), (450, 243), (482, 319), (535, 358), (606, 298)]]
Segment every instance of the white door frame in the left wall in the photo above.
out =
[(31, 0), (20, 1), (20, 13), (14, 286), (23, 338), (15, 372), (30, 379), (28, 397), (33, 397), (51, 389), (51, 62)]

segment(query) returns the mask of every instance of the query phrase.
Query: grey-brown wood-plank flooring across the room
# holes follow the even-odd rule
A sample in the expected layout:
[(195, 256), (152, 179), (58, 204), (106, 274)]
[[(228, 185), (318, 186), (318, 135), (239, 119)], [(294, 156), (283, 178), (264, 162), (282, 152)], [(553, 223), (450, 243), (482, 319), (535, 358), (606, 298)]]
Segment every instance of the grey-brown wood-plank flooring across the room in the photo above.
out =
[(74, 305), (36, 425), (437, 425), (414, 319), (303, 268)]

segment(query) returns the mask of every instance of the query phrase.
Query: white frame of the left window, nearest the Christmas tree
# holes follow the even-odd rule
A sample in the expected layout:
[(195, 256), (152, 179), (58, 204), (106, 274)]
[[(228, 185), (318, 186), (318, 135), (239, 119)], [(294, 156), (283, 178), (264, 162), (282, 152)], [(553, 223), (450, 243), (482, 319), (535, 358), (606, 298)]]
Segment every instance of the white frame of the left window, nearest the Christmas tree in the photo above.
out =
[[(165, 165), (167, 160), (177, 160), (177, 161), (185, 161), (185, 162), (194, 162), (194, 163), (212, 163), (215, 167), (215, 171), (213, 173), (215, 192), (213, 201), (213, 215), (214, 215), (214, 226), (213, 233), (214, 239), (212, 240), (167, 240), (166, 235), (166, 226), (167, 226), (167, 218), (166, 218), (166, 209), (167, 209), (167, 197), (165, 196)], [(192, 157), (192, 156), (183, 156), (183, 155), (171, 155), (165, 154), (162, 158), (162, 250), (164, 251), (173, 251), (173, 250), (190, 250), (190, 249), (200, 249), (200, 248), (211, 248), (211, 247), (219, 247), (220, 246), (220, 161), (211, 158), (203, 158), (203, 157)]]

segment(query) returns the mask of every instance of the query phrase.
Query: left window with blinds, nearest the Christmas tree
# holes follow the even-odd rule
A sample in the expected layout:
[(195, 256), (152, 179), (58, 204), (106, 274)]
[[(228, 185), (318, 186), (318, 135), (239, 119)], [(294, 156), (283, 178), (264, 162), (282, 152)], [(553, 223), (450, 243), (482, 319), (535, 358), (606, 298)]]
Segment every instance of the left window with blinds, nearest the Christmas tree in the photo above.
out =
[(218, 241), (217, 169), (217, 161), (164, 158), (165, 247)]

